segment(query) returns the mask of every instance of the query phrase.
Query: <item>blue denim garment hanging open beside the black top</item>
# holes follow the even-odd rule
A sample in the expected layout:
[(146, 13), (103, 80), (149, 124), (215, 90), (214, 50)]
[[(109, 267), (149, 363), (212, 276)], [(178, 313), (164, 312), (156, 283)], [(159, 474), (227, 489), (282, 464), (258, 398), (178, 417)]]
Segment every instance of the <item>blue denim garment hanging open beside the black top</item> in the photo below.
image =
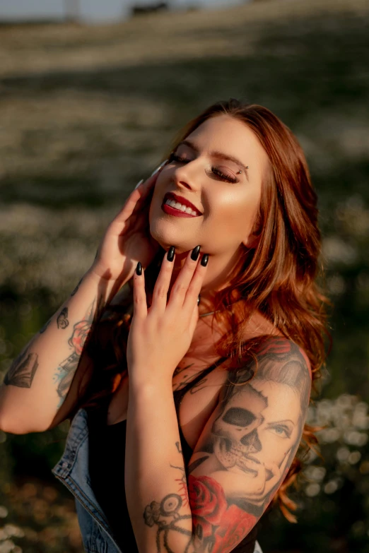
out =
[[(105, 514), (91, 488), (88, 473), (88, 424), (87, 412), (78, 410), (71, 423), (66, 446), (59, 463), (52, 472), (74, 495), (81, 528), (83, 545), (87, 553), (129, 553), (117, 545)], [(258, 542), (254, 553), (262, 553)]]

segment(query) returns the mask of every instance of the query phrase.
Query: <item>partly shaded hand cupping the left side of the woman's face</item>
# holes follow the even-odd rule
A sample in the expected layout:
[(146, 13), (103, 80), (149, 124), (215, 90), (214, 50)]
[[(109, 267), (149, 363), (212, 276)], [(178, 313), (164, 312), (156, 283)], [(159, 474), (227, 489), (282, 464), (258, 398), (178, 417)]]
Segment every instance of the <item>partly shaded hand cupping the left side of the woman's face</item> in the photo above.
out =
[(90, 268), (99, 278), (126, 283), (133, 276), (138, 261), (147, 267), (158, 251), (158, 242), (149, 232), (148, 210), (153, 186), (165, 162), (145, 182), (136, 186), (107, 227)]

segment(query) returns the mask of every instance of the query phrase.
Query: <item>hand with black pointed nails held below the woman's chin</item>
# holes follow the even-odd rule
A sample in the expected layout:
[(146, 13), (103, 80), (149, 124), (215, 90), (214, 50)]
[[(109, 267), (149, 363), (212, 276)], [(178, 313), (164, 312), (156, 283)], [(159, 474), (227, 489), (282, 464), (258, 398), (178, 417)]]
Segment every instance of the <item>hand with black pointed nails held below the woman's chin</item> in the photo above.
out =
[[(144, 272), (134, 275), (134, 316), (129, 331), (127, 363), (134, 384), (172, 381), (175, 367), (191, 345), (199, 311), (197, 298), (206, 273), (209, 256), (199, 258), (200, 246), (189, 252), (184, 266), (168, 290), (174, 266), (174, 248), (163, 259), (148, 308)], [(170, 261), (172, 259), (172, 261)]]

